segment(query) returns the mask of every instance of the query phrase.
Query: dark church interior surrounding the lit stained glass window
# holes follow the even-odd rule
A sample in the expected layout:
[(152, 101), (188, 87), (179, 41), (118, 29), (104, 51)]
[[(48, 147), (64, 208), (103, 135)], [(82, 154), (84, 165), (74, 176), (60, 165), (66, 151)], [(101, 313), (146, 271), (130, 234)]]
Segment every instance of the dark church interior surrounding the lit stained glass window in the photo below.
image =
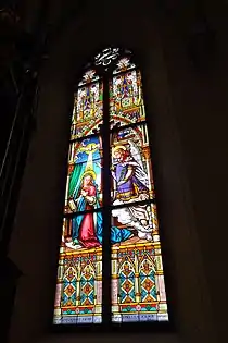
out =
[[(0, 1), (1, 342), (227, 341), (228, 1)], [(139, 56), (173, 328), (53, 332), (69, 113), (87, 61)]]

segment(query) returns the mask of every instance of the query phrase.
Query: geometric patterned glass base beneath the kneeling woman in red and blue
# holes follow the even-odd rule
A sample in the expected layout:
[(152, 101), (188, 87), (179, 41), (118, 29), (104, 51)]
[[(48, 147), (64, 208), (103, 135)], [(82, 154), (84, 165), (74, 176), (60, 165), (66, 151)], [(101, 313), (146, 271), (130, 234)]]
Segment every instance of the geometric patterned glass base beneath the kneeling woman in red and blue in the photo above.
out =
[(61, 249), (54, 323), (100, 322), (101, 249), (93, 254)]

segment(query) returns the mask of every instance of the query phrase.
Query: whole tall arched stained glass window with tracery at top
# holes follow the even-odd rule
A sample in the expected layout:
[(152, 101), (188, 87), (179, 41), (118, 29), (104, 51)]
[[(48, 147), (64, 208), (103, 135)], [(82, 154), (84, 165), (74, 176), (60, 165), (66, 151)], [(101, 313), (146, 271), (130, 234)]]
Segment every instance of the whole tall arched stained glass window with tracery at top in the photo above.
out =
[(107, 48), (74, 96), (54, 323), (167, 322), (141, 73)]

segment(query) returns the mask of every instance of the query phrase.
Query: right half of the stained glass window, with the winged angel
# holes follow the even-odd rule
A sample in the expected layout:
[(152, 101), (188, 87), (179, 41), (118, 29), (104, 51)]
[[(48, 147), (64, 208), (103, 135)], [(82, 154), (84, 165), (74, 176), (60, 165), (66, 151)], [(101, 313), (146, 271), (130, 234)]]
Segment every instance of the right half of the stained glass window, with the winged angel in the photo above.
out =
[(112, 321), (168, 321), (141, 77), (127, 69), (110, 84), (112, 225), (127, 237), (112, 245)]

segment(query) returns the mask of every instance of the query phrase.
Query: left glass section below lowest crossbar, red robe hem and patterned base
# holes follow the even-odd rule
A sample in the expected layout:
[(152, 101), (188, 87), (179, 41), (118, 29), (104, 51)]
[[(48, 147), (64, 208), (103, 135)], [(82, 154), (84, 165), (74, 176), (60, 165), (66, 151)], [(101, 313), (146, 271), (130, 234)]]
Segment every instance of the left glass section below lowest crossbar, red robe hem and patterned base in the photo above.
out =
[(99, 215), (88, 212), (63, 221), (55, 324), (102, 321), (102, 248), (94, 233), (99, 225), (94, 224), (94, 217)]

